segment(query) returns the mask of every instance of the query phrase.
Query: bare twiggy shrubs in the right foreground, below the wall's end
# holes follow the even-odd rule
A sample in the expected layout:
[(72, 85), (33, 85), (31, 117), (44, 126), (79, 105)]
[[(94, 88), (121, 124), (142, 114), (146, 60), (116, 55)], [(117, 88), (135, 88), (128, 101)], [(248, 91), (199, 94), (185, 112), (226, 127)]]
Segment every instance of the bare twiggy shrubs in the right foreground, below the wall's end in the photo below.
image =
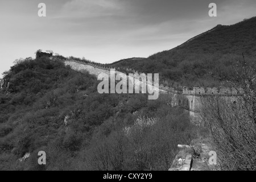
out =
[(216, 144), (222, 170), (256, 169), (256, 69), (238, 62), (232, 80), (240, 95), (233, 98), (205, 97), (202, 115)]

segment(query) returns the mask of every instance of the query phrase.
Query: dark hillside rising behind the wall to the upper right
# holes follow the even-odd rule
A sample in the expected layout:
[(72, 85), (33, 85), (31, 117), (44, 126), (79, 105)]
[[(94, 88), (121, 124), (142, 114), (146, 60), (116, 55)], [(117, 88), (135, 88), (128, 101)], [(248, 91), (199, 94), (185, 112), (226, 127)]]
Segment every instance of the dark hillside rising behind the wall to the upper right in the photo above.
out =
[(113, 64), (144, 73), (159, 73), (168, 86), (218, 86), (233, 77), (233, 65), (245, 54), (255, 60), (256, 17), (204, 32), (169, 51), (146, 59), (126, 59)]

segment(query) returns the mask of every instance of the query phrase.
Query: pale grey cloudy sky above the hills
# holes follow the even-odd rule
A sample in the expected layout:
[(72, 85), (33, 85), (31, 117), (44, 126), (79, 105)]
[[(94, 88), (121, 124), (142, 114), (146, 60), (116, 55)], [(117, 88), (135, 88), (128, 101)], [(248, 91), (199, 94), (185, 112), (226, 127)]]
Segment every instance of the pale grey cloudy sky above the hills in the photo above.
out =
[(253, 16), (255, 0), (0, 0), (0, 73), (38, 49), (97, 63), (148, 57)]

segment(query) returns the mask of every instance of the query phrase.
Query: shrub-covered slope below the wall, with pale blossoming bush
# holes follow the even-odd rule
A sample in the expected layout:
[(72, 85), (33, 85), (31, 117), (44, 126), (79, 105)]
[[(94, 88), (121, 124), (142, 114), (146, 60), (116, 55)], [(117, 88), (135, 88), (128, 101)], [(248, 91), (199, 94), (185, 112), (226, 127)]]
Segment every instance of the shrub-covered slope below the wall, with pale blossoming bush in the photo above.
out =
[(193, 139), (168, 96), (99, 94), (95, 76), (61, 61), (27, 58), (3, 79), (0, 170), (166, 170), (177, 144)]

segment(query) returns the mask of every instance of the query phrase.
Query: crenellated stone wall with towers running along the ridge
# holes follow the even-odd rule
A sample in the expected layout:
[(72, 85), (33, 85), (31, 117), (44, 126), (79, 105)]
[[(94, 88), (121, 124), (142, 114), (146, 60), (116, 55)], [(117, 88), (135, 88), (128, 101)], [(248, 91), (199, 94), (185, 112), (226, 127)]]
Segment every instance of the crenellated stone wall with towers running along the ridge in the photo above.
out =
[[(110, 70), (115, 69), (115, 73), (122, 73), (129, 72), (129, 73), (137, 73), (138, 75), (143, 75), (144, 73), (136, 71), (131, 68), (119, 68), (119, 67), (109, 67), (104, 64), (92, 63), (87, 60), (79, 60), (79, 59), (59, 59), (56, 56), (52, 56), (52, 54), (47, 53), (37, 53), (36, 57), (38, 59), (40, 57), (49, 57), (51, 60), (55, 61), (62, 61), (65, 65), (69, 65), (72, 69), (76, 71), (88, 71), (89, 74), (98, 76), (100, 73), (106, 73), (110, 75)], [(146, 75), (146, 74), (145, 74)], [(127, 76), (129, 80), (133, 79), (134, 77)], [(164, 82), (164, 81), (163, 81)], [(177, 91), (174, 88), (170, 88), (168, 86), (164, 86), (163, 84), (152, 86), (151, 82), (143, 82), (142, 80), (134, 79), (135, 85), (142, 85), (146, 84), (147, 88), (152, 88), (154, 91), (158, 91), (162, 94), (171, 94), (172, 98), (172, 105), (183, 105), (185, 110), (189, 111), (189, 115), (191, 116), (193, 121), (200, 121), (200, 108), (201, 108), (201, 98), (205, 96), (221, 96), (226, 97), (232, 102), (236, 102), (236, 96), (241, 93), (241, 89), (234, 89), (234, 88), (203, 88), (203, 87), (194, 87), (194, 88), (187, 88), (183, 87), (183, 91)], [(1, 89), (2, 88), (9, 88), (10, 83), (2, 80), (1, 82)], [(149, 86), (148, 86), (149, 85)], [(183, 96), (183, 97), (179, 97)], [(183, 99), (185, 98), (185, 100)]]

